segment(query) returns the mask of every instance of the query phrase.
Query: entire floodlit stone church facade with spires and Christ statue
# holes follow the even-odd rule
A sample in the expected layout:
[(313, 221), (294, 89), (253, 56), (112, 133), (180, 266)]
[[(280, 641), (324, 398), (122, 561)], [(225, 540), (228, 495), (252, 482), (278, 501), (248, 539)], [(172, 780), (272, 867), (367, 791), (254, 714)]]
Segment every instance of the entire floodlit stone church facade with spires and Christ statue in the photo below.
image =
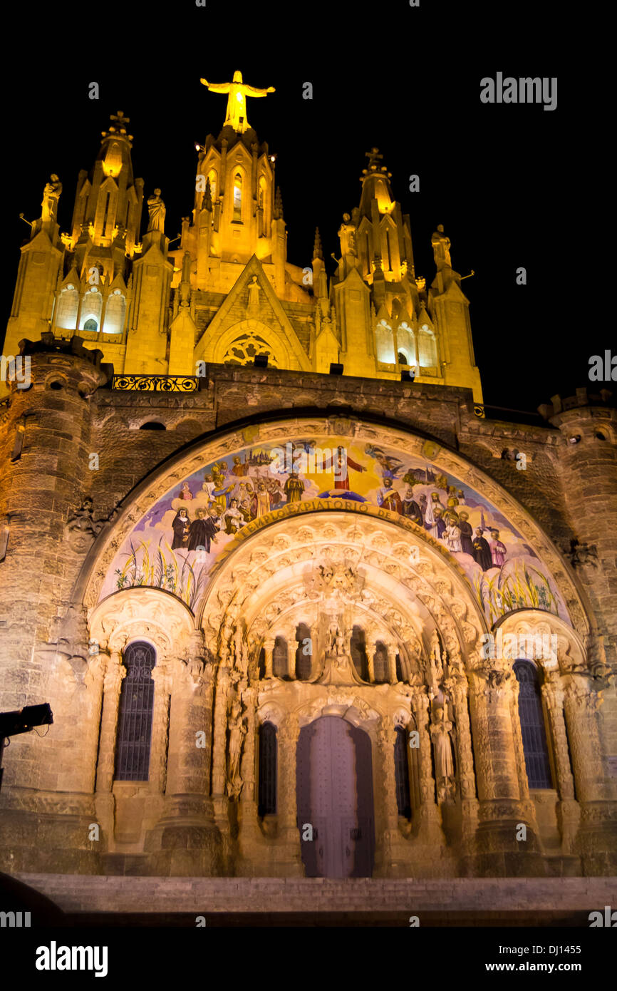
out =
[(319, 232), (294, 266), (271, 87), (201, 81), (175, 251), (121, 112), (22, 248), (0, 710), (53, 723), (5, 751), (0, 869), (615, 874), (610, 393), (486, 417), (450, 240), (429, 284), (378, 150), (336, 273)]

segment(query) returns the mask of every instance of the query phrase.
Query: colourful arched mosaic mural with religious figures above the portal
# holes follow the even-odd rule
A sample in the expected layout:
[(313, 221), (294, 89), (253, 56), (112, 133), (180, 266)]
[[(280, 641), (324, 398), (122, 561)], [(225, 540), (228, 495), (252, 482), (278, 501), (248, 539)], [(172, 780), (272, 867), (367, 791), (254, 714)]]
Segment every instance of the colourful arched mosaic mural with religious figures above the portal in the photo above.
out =
[(195, 610), (225, 547), (287, 507), (386, 509), (452, 554), (490, 623), (525, 607), (569, 622), (546, 566), (483, 495), (423, 457), (332, 435), (246, 447), (175, 485), (125, 540), (101, 598), (152, 586)]

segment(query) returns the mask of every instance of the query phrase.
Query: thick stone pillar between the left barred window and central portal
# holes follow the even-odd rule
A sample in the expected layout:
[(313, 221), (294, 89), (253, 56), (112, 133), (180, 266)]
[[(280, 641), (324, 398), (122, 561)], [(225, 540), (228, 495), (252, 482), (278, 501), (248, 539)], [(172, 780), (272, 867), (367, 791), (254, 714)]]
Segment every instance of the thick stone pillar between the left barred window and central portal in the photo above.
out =
[(221, 873), (220, 836), (210, 799), (212, 664), (200, 634), (186, 658), (169, 662), (169, 746), (163, 814), (148, 841), (153, 873), (212, 876)]

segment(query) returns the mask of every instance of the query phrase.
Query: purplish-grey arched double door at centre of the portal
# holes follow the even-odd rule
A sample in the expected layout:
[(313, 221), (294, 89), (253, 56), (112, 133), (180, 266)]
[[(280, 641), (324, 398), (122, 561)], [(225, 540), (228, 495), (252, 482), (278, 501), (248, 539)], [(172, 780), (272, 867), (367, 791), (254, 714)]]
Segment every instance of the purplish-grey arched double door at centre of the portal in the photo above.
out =
[(372, 763), (366, 733), (339, 716), (300, 731), (298, 826), (307, 877), (370, 877), (374, 859)]

